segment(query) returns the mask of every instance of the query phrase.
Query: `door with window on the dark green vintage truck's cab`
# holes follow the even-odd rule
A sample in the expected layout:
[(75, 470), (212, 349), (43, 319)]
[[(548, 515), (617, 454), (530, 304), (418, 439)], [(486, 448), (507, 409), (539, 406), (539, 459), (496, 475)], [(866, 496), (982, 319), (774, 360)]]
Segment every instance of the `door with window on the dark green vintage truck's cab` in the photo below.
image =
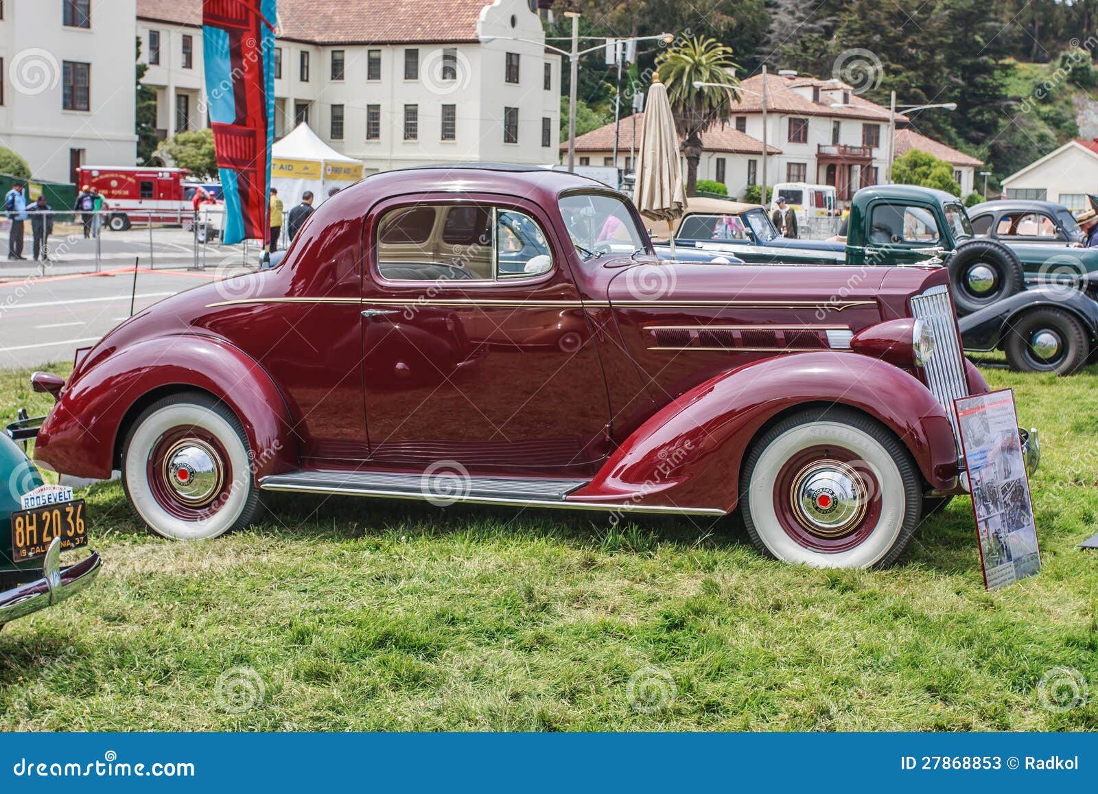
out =
[(949, 245), (935, 208), (914, 202), (875, 201), (867, 210), (865, 259), (877, 265), (910, 265), (941, 254)]

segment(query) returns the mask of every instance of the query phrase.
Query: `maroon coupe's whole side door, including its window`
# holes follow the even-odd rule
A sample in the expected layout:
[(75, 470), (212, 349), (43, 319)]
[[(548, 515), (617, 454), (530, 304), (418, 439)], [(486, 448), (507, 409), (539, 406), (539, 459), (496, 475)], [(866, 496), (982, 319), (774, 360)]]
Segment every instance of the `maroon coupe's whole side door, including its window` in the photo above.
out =
[(538, 208), (497, 197), (402, 197), (371, 212), (362, 333), (373, 460), (563, 476), (605, 458), (606, 384), (549, 228)]

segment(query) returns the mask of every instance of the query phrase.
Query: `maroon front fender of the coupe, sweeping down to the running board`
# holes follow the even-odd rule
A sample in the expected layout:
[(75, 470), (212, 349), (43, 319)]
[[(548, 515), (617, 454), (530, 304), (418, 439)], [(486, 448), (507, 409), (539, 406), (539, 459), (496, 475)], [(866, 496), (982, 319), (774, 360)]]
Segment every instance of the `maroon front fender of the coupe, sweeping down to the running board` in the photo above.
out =
[(780, 415), (842, 404), (890, 428), (934, 490), (955, 485), (945, 410), (914, 376), (878, 359), (819, 351), (776, 356), (698, 384), (638, 427), (569, 501), (736, 507), (740, 463)]

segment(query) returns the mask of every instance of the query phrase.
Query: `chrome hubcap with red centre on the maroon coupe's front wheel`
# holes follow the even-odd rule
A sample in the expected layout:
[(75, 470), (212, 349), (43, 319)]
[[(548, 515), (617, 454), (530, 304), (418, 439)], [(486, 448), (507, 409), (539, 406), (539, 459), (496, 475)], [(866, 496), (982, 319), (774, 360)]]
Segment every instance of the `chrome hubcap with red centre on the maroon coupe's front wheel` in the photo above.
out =
[(794, 480), (793, 514), (814, 535), (844, 535), (862, 521), (867, 505), (862, 478), (841, 461), (816, 461)]

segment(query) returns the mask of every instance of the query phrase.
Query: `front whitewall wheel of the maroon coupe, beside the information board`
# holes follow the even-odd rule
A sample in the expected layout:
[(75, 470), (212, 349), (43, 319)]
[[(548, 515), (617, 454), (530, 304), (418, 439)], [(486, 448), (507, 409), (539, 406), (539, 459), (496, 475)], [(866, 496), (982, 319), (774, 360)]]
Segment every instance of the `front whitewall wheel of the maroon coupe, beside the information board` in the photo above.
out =
[(919, 525), (922, 488), (904, 445), (845, 407), (804, 411), (770, 427), (740, 478), (740, 505), (764, 553), (819, 568), (884, 568)]

